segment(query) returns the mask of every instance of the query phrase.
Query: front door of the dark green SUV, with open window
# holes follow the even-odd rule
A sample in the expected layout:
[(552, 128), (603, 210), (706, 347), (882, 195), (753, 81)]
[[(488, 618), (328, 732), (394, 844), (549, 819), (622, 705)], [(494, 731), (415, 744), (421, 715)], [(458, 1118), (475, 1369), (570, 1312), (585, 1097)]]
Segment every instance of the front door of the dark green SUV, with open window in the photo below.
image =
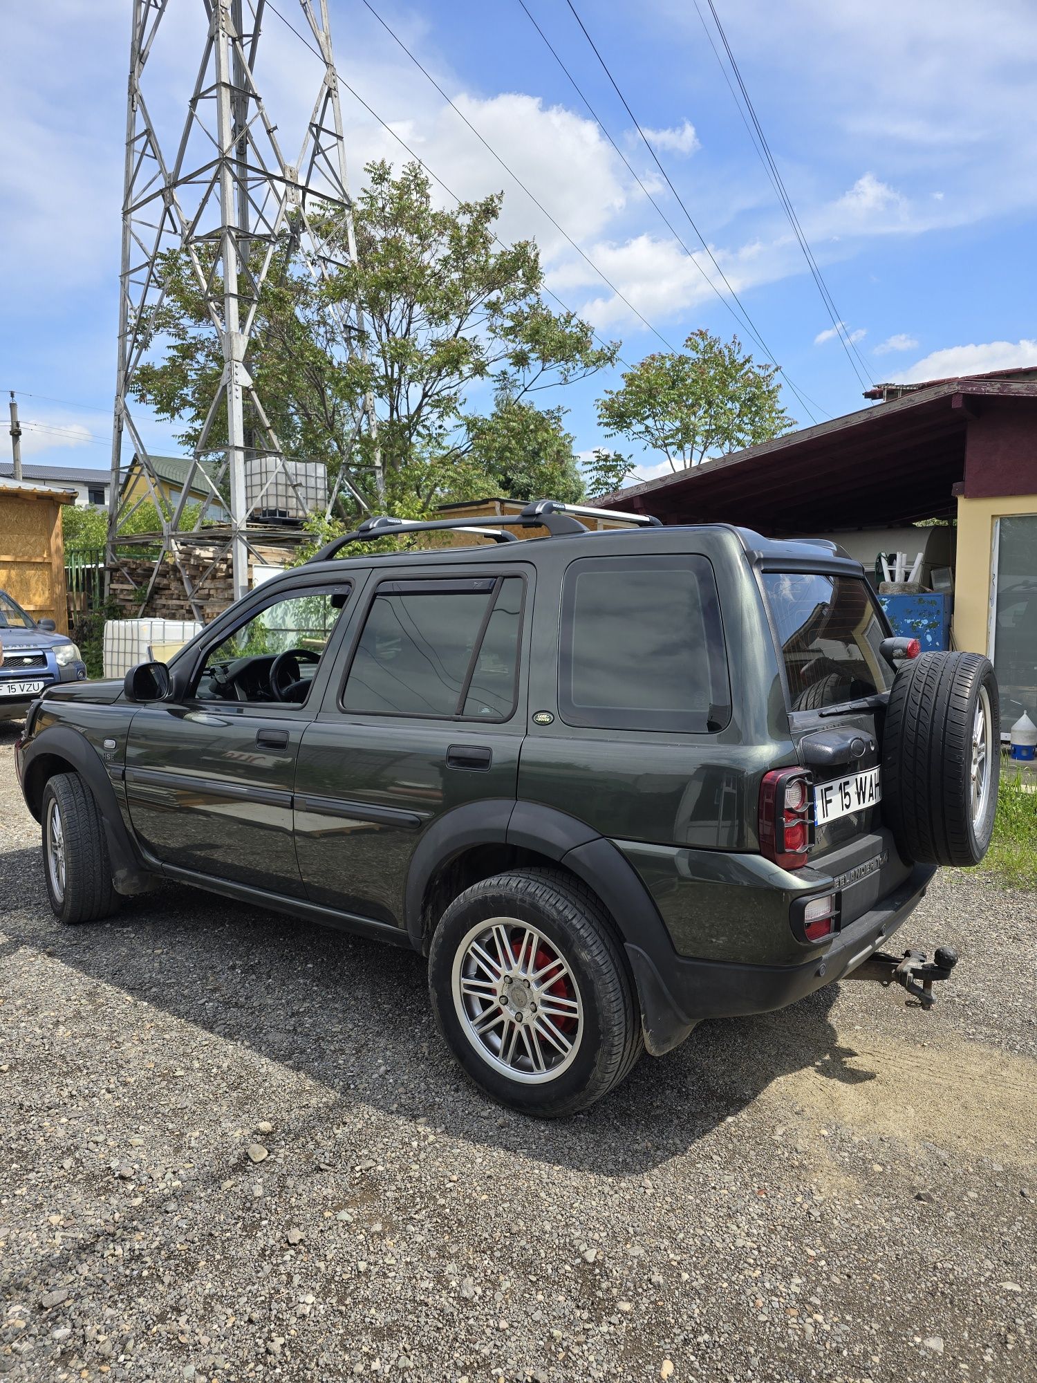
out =
[(292, 791), (348, 584), (254, 592), (199, 650), (180, 704), (142, 707), (126, 752), (133, 827), (165, 864), (303, 896)]

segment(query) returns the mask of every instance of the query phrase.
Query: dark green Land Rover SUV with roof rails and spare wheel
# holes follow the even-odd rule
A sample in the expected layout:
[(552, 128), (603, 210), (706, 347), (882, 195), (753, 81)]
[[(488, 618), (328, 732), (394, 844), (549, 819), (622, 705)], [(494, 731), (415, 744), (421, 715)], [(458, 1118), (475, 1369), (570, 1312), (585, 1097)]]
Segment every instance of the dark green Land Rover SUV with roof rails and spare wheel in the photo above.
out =
[(914, 657), (831, 544), (596, 514), (337, 556), (459, 527), (372, 519), (167, 668), (47, 692), (17, 761), (57, 916), (180, 880), (411, 946), (539, 1115), (860, 965), (986, 851), (990, 664)]

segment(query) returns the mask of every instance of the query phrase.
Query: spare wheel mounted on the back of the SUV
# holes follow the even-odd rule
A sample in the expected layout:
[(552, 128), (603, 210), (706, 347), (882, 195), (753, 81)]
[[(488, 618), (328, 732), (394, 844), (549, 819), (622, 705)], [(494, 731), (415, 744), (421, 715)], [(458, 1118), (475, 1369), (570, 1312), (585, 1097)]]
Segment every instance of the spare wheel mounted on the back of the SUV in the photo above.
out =
[(1001, 772), (997, 678), (978, 653), (924, 653), (897, 671), (882, 740), (882, 815), (918, 864), (979, 864)]

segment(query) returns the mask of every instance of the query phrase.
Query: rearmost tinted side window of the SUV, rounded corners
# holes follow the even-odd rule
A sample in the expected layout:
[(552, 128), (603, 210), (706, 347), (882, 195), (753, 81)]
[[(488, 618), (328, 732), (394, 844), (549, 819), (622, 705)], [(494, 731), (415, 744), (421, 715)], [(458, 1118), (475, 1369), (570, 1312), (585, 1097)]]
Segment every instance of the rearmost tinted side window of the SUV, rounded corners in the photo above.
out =
[(701, 556), (582, 557), (561, 595), (559, 711), (608, 730), (722, 730), (720, 602)]

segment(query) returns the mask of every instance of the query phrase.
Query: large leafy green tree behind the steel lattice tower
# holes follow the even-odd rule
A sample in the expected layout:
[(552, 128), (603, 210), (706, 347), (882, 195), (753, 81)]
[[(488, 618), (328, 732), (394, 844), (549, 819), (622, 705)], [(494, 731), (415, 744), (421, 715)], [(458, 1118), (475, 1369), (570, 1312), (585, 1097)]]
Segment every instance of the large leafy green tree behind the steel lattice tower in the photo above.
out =
[[(347, 463), (372, 499), (380, 461), (384, 506), (408, 517), (469, 498), (488, 479), (505, 491), (512, 474), (485, 472), (503, 456), (498, 431), (521, 434), (527, 458), (538, 438), (550, 443), (557, 469), (560, 414), (538, 409), (532, 396), (610, 365), (618, 343), (596, 346), (586, 322), (548, 307), (535, 243), (496, 239), (499, 194), (442, 210), (419, 165), (394, 176), (371, 163), (366, 174), (354, 206), (357, 261), (315, 282), (293, 270), (289, 231), (259, 303), (246, 365), (285, 451), (325, 461), (332, 476)], [(322, 231), (346, 261), (344, 224), (330, 217)], [(145, 322), (155, 358), (138, 369), (136, 393), (180, 419), (180, 440), (194, 447), (223, 361), (191, 266), (169, 256), (163, 279), (163, 306)], [(354, 307), (362, 329), (346, 340), (344, 310)], [(473, 426), (467, 404), (487, 386), (491, 433)], [(376, 441), (357, 429), (368, 397)], [(220, 415), (214, 426), (218, 445)]]

